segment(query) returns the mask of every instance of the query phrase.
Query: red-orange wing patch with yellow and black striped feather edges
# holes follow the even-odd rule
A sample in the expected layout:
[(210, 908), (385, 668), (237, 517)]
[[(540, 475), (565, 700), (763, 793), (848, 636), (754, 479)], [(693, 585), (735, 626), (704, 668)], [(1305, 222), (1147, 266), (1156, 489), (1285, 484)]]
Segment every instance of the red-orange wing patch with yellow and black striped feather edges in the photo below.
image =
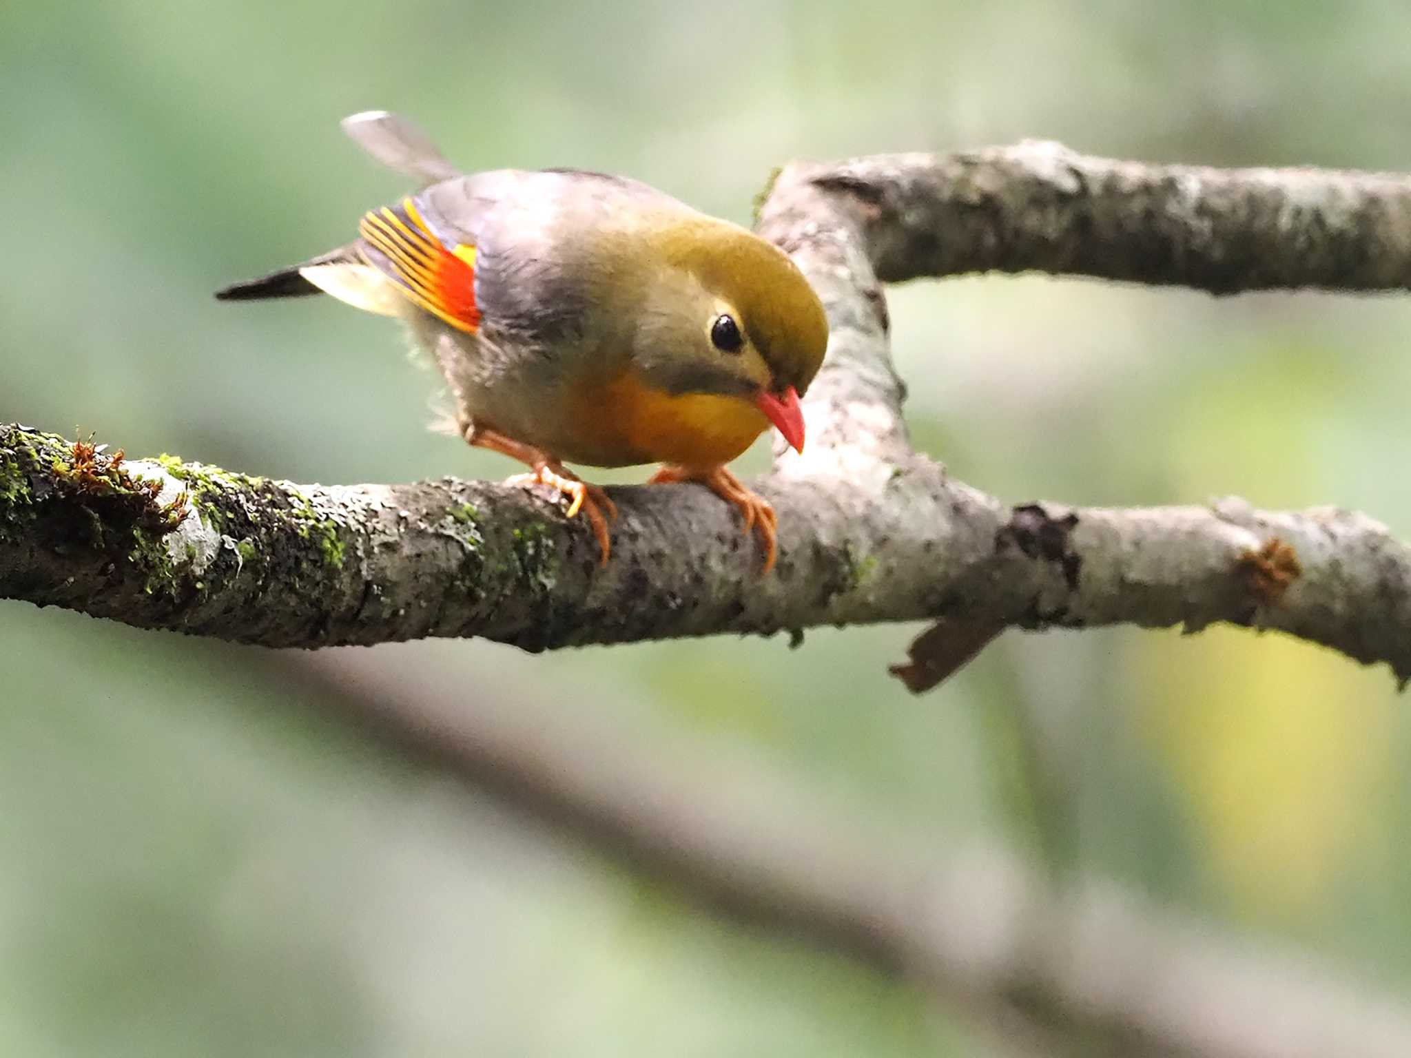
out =
[(480, 329), (476, 308), (476, 247), (447, 248), (422, 220), (411, 197), (363, 214), (363, 258), (394, 279), (413, 303), (459, 330)]

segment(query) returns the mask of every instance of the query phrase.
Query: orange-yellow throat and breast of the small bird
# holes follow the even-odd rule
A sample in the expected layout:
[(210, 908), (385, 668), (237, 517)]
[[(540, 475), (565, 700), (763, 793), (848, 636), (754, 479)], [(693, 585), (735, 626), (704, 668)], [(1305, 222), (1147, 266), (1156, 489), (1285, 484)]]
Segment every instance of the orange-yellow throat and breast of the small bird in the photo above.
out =
[(598, 467), (714, 467), (739, 456), (769, 426), (748, 398), (673, 396), (643, 385), (631, 370), (605, 385), (584, 387), (573, 403), (583, 451), (569, 458)]

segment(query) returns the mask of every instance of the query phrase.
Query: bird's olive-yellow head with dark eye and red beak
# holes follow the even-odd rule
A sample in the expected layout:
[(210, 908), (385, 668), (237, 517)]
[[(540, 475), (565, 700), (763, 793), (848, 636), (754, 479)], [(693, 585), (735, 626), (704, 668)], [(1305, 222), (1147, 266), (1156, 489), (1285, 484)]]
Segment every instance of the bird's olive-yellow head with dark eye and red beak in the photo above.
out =
[[(828, 320), (777, 247), (691, 214), (653, 233), (653, 267), (632, 357), (645, 385), (737, 422), (773, 425), (803, 451), (799, 398), (823, 364)], [(714, 399), (710, 399), (714, 398)], [(708, 423), (703, 423), (707, 427)]]

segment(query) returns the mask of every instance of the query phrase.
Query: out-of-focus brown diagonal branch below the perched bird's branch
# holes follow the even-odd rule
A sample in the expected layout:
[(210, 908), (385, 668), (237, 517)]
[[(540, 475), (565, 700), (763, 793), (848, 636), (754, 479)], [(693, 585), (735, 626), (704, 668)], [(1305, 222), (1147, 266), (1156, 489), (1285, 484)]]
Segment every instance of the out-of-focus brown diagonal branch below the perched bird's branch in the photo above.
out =
[[(598, 717), (464, 703), (363, 650), (288, 662), (401, 752), (492, 793), (703, 908), (827, 951), (1074, 1054), (1401, 1058), (1411, 1007), (1290, 951), (1181, 921), (1110, 883), (1030, 873), (998, 848), (820, 815), (738, 763)], [(683, 760), (696, 763), (683, 767)], [(1051, 1052), (1051, 1051), (1050, 1051)]]

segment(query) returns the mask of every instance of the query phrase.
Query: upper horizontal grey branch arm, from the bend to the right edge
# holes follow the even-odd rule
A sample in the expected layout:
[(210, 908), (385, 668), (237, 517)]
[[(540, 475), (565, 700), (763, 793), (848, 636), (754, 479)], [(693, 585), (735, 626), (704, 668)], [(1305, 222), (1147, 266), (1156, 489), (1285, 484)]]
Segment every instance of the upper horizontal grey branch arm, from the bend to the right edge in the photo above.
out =
[(1411, 285), (1411, 179), (1091, 158), (1026, 141), (813, 169), (859, 199), (886, 282), (1043, 271), (1211, 293)]

